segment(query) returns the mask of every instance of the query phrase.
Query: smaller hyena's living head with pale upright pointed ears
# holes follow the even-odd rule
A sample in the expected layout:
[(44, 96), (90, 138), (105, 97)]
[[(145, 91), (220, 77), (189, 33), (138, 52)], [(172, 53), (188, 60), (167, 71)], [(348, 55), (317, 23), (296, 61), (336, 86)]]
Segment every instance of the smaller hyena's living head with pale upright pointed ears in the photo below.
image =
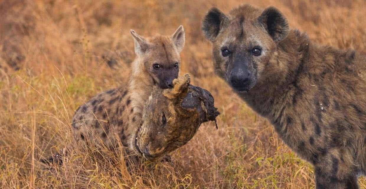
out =
[[(178, 77), (180, 67), (179, 53), (184, 47), (184, 29), (179, 26), (172, 36), (144, 38), (131, 30), (135, 40), (135, 61), (133, 71), (147, 73), (154, 84), (162, 89), (172, 88), (173, 79)], [(142, 65), (141, 65), (142, 64)]]

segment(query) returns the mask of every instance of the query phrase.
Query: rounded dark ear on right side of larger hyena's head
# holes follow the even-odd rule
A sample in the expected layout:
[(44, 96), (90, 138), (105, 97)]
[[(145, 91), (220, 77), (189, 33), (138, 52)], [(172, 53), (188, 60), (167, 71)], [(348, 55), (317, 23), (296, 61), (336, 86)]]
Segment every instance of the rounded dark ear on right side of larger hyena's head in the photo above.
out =
[(259, 16), (258, 21), (274, 41), (283, 40), (290, 31), (287, 19), (275, 7), (266, 8)]

